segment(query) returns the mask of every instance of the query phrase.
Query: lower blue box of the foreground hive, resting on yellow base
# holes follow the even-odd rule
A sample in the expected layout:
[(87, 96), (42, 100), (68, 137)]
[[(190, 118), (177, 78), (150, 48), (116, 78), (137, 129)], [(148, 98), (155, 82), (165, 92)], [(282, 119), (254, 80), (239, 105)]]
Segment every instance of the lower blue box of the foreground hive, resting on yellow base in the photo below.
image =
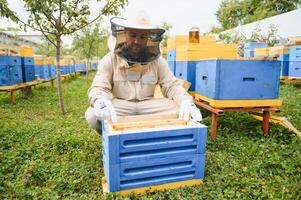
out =
[[(204, 178), (205, 154), (188, 154), (108, 165), (110, 192)], [(111, 172), (111, 173), (109, 173)], [(109, 174), (109, 176), (107, 176)]]

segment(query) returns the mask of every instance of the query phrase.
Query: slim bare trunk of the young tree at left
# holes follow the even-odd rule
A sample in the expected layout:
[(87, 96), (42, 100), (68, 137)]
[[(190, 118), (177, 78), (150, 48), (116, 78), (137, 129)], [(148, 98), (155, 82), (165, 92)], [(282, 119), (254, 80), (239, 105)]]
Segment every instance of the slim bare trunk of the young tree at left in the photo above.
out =
[(65, 106), (64, 106), (64, 99), (63, 99), (63, 89), (62, 89), (62, 80), (61, 80), (61, 66), (60, 66), (60, 59), (61, 59), (61, 36), (57, 36), (56, 38), (56, 76), (57, 76), (57, 93), (59, 97), (59, 103), (61, 108), (62, 115), (65, 115)]

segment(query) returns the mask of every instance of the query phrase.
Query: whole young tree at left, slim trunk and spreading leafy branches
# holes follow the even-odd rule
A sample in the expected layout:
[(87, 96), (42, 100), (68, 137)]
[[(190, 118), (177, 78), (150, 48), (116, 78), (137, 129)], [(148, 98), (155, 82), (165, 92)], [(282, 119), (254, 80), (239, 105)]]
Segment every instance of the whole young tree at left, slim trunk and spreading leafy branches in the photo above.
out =
[[(60, 55), (63, 35), (72, 34), (89, 24), (92, 24), (102, 15), (117, 14), (120, 7), (124, 7), (127, 0), (106, 0), (98, 15), (89, 21), (88, 0), (23, 0), (25, 8), (29, 12), (27, 21), (21, 19), (7, 6), (6, 0), (1, 2), (1, 16), (7, 17), (24, 28), (31, 27), (42, 32), (46, 39), (56, 48), (58, 98), (61, 113), (65, 114), (62, 84), (60, 76)], [(99, 0), (100, 1), (100, 0)]]

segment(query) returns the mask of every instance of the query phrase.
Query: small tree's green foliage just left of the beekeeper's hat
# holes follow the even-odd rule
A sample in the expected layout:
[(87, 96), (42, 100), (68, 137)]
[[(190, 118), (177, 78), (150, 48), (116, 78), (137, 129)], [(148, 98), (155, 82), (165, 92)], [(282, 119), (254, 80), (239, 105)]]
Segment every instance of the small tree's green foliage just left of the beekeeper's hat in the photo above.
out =
[(109, 32), (100, 30), (99, 23), (95, 27), (88, 26), (77, 33), (72, 42), (73, 55), (80, 59), (91, 60), (93, 57), (103, 57), (107, 52)]

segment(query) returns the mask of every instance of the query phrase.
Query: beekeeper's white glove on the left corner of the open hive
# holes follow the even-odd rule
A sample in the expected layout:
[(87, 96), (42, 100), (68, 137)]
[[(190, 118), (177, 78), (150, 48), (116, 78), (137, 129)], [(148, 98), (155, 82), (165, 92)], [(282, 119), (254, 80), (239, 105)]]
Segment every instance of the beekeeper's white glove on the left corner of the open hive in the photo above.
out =
[(94, 114), (98, 120), (110, 119), (117, 122), (116, 111), (110, 100), (98, 99), (94, 103)]

